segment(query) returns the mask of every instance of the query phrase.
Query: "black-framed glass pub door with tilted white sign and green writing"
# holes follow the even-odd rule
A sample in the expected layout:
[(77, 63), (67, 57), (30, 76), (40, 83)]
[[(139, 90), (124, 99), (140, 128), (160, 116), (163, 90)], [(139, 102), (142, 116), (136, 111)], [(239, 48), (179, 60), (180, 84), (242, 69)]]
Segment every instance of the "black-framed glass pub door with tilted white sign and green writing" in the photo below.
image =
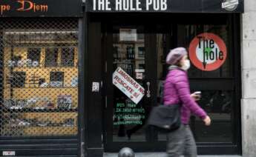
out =
[(157, 62), (151, 61), (155, 59), (150, 48), (153, 36), (145, 29), (143, 25), (112, 25), (105, 36), (107, 150), (144, 147), (152, 138), (145, 121), (155, 99), (156, 79), (151, 76)]

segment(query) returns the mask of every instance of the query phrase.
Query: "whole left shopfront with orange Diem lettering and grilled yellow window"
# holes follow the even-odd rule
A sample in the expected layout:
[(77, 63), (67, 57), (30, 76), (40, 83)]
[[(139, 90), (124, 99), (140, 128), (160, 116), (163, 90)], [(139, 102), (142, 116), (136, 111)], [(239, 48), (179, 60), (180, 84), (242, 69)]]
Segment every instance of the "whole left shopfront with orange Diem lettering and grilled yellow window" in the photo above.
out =
[(0, 5), (0, 156), (78, 156), (82, 1)]

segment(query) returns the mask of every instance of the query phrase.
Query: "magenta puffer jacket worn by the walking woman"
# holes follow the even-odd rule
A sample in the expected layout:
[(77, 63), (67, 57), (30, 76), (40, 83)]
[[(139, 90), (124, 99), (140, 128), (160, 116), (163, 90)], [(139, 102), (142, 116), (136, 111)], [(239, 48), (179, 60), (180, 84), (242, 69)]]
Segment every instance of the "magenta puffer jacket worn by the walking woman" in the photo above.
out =
[(183, 124), (188, 124), (191, 113), (202, 119), (207, 116), (190, 94), (187, 72), (179, 67), (172, 68), (165, 79), (163, 101), (165, 105), (182, 104), (180, 112)]

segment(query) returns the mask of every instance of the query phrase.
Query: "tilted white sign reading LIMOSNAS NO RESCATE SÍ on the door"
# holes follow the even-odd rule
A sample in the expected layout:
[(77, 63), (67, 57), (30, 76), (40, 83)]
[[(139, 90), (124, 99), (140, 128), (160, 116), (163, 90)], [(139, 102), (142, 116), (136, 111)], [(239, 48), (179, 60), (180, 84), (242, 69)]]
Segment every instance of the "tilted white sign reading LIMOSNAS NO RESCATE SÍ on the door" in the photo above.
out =
[(131, 98), (135, 104), (138, 104), (145, 94), (145, 89), (135, 81), (128, 73), (125, 73), (121, 67), (117, 67), (113, 73), (113, 84)]

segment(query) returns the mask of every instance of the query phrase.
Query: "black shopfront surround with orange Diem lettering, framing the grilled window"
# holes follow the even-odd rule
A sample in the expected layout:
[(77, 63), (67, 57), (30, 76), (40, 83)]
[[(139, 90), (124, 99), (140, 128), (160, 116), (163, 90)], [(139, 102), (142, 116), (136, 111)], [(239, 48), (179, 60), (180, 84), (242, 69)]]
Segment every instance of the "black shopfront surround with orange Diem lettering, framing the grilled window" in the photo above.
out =
[[(0, 26), (1, 55), (0, 56), (1, 56), (2, 63), (4, 61), (3, 54), (5, 51), (4, 42), (6, 42), (6, 39), (4, 39), (4, 36), (7, 36), (7, 35), (4, 35), (4, 31), (2, 31), (4, 29), (5, 30), (13, 29), (14, 32), (16, 31), (16, 33), (18, 33), (17, 36), (22, 36), (22, 33), (25, 33), (19, 29), (28, 30), (27, 36), (30, 33), (31, 34), (35, 33), (36, 31), (44, 32), (44, 33), (54, 33), (54, 31), (59, 30), (59, 33), (62, 33), (62, 35), (65, 34), (63, 36), (66, 36), (67, 39), (71, 38), (71, 39), (78, 40), (77, 42), (78, 44), (76, 47), (77, 47), (77, 52), (79, 52), (78, 62), (75, 63), (77, 64), (77, 67), (79, 67), (77, 70), (77, 73), (79, 76), (79, 85), (78, 85), (79, 96), (77, 98), (78, 105), (76, 108), (73, 108), (70, 110), (60, 110), (60, 109), (59, 110), (58, 109), (53, 109), (53, 110), (26, 109), (25, 110), (24, 109), (24, 110), (14, 111), (12, 109), (8, 109), (8, 110), (4, 109), (4, 107), (2, 106), (0, 107), (1, 121), (5, 121), (3, 118), (3, 114), (7, 114), (8, 112), (13, 115), (17, 113), (19, 114), (23, 114), (23, 113), (24, 114), (29, 114), (29, 113), (41, 114), (42, 113), (42, 114), (49, 114), (49, 115), (51, 113), (54, 113), (56, 115), (62, 115), (62, 114), (69, 114), (69, 113), (72, 114), (73, 112), (76, 112), (75, 114), (78, 114), (78, 117), (76, 118), (76, 121), (78, 121), (77, 122), (78, 128), (76, 132), (77, 134), (75, 136), (73, 135), (72, 136), (54, 136), (54, 135), (53, 136), (17, 136), (18, 134), (15, 134), (15, 136), (2, 136), (1, 134), (0, 156), (70, 156), (70, 157), (85, 156), (86, 153), (85, 153), (85, 150), (83, 149), (86, 145), (84, 142), (85, 141), (84, 140), (85, 138), (84, 115), (85, 114), (83, 113), (84, 105), (82, 105), (82, 104), (85, 104), (85, 99), (83, 97), (85, 95), (85, 90), (84, 90), (85, 64), (83, 62), (85, 61), (85, 58), (84, 58), (85, 54), (80, 53), (85, 51), (85, 34), (84, 34), (85, 20), (83, 19), (84, 16), (85, 16), (84, 5), (80, 0), (74, 0), (74, 1), (3, 0), (3, 1), (0, 1), (0, 19), (1, 19), (1, 26)], [(49, 30), (49, 28), (52, 30)], [(33, 31), (30, 32), (30, 30), (32, 29), (34, 29), (35, 32)], [(48, 32), (45, 32), (44, 29), (47, 30)], [(76, 30), (77, 30), (77, 35), (75, 35)], [(11, 31), (9, 34), (11, 35)], [(45, 35), (40, 34), (40, 36), (45, 36)], [(62, 39), (64, 39), (63, 36), (62, 36)], [(33, 36), (31, 38), (33, 38)], [(23, 39), (26, 39), (26, 37), (24, 37)], [(47, 37), (45, 37), (45, 39), (47, 39)], [(53, 39), (53, 40), (56, 40), (56, 39)], [(32, 43), (33, 42), (30, 41), (31, 47), (33, 47)], [(47, 47), (46, 44), (43, 46)], [(61, 47), (61, 46), (57, 45), (56, 47)], [(71, 52), (71, 51), (68, 51), (68, 52)], [(73, 63), (70, 63), (70, 64), (73, 64)], [(1, 64), (1, 66), (2, 65), (3, 64)], [(3, 68), (5, 67), (1, 67), (1, 87), (0, 87), (1, 103), (4, 100), (3, 90), (5, 89), (5, 87), (3, 87), (4, 86), (3, 82), (6, 79), (4, 77), (4, 73), (6, 72), (6, 70), (3, 70)], [(33, 69), (33, 67), (31, 67), (31, 69)], [(35, 93), (35, 94), (38, 94), (38, 93)], [(17, 128), (13, 127), (13, 130), (10, 130), (10, 134), (16, 133), (16, 130), (18, 130)], [(25, 129), (28, 129), (28, 127)], [(43, 129), (44, 128), (42, 127), (42, 130)], [(63, 127), (63, 129), (65, 129), (65, 127)], [(1, 130), (1, 133), (3, 133), (2, 126), (0, 130)], [(30, 132), (33, 132), (33, 130), (36, 130), (36, 129), (31, 129)], [(56, 133), (56, 134), (60, 135), (62, 133)]]

